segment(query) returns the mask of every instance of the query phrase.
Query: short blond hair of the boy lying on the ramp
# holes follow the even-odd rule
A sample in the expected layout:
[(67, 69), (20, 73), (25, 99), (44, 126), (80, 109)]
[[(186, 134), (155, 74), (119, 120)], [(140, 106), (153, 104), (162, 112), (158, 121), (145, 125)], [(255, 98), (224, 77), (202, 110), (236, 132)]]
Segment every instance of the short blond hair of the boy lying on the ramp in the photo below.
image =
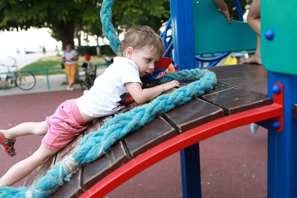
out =
[(129, 47), (133, 49), (142, 49), (144, 47), (153, 47), (157, 54), (162, 56), (165, 52), (163, 40), (149, 26), (134, 26), (130, 28), (120, 47), (120, 54), (123, 55)]

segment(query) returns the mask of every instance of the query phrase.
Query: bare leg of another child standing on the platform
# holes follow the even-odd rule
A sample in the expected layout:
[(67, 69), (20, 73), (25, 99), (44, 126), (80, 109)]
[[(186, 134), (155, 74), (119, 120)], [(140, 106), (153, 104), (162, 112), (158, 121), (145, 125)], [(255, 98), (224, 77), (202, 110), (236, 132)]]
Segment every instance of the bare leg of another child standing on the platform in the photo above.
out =
[(243, 63), (258, 63), (262, 64), (260, 54), (260, 0), (253, 0), (247, 15), (247, 23), (257, 35), (257, 46), (253, 56), (243, 61)]

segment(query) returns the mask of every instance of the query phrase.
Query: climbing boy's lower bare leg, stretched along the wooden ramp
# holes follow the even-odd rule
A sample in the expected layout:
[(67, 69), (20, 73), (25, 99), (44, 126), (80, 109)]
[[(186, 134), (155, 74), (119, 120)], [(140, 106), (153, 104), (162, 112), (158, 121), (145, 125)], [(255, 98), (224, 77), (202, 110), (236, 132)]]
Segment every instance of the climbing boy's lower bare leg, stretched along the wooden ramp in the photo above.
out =
[(51, 150), (41, 145), (30, 157), (12, 166), (7, 173), (0, 178), (0, 186), (11, 186), (29, 175), (35, 168), (43, 165), (59, 150)]

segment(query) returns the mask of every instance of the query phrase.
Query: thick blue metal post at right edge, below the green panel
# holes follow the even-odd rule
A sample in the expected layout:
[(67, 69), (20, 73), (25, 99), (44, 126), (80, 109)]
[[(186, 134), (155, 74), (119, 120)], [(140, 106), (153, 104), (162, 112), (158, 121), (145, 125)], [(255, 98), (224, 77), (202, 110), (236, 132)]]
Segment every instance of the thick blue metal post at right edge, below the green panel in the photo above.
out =
[(297, 198), (297, 76), (268, 72), (268, 96), (273, 83), (284, 85), (284, 130), (268, 131), (268, 198)]

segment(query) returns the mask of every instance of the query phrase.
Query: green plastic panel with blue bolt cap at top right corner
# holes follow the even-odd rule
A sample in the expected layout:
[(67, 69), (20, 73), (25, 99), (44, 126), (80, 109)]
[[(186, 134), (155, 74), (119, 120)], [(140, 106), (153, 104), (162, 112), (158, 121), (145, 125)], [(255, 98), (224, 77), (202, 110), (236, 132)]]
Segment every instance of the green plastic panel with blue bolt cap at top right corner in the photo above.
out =
[[(297, 75), (297, 1), (261, 0), (261, 58), (271, 72)], [(265, 38), (268, 30), (274, 38)]]

